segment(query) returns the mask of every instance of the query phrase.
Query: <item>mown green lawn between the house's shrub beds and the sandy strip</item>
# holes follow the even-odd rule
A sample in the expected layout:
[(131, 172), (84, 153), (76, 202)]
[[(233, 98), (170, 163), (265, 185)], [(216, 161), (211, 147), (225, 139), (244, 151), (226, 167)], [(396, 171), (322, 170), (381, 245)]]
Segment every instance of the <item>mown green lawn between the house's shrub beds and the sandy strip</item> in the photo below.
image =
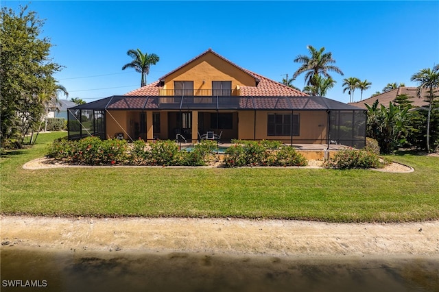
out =
[(292, 168), (25, 170), (54, 138), (0, 160), (1, 213), (46, 216), (243, 217), (318, 221), (439, 219), (439, 158), (399, 154), (413, 173)]

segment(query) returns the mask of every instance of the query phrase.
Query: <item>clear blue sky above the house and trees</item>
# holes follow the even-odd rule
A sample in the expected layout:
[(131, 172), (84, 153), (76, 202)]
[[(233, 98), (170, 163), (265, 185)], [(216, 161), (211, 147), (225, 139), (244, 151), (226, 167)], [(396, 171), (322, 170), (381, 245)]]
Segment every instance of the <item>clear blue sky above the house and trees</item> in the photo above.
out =
[[(140, 73), (121, 70), (128, 49), (156, 53), (147, 83), (213, 49), (280, 82), (300, 66), (307, 45), (333, 53), (344, 76), (327, 97), (348, 102), (345, 77), (372, 82), (363, 99), (390, 82), (439, 63), (439, 1), (5, 1), (45, 19), (42, 36), (65, 68), (55, 75), (69, 98), (87, 102), (139, 88)], [(304, 75), (294, 85), (304, 86)], [(355, 100), (360, 93), (355, 92)], [(64, 98), (64, 97), (60, 97)]]

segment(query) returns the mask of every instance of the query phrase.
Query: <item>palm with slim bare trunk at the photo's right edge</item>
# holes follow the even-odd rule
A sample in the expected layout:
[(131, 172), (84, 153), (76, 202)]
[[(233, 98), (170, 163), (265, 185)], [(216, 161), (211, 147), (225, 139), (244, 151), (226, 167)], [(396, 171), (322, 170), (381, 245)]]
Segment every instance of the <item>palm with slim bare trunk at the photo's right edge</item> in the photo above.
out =
[(422, 69), (418, 73), (412, 75), (410, 78), (411, 81), (418, 82), (419, 86), (416, 90), (416, 94), (418, 97), (421, 97), (423, 90), (428, 90), (428, 94), (425, 96), (429, 103), (428, 114), (427, 114), (427, 152), (430, 152), (430, 116), (431, 116), (431, 108), (433, 106), (433, 101), (438, 95), (435, 93), (438, 92), (439, 87), (439, 66), (434, 66), (433, 69)]

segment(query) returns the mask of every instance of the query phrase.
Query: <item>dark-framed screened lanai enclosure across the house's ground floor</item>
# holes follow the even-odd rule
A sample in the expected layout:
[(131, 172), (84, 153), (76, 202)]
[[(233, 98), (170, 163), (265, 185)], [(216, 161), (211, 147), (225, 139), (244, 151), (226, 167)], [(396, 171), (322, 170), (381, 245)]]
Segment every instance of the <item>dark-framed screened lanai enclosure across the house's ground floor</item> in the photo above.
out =
[(326, 97), (112, 96), (69, 108), (69, 139), (184, 139), (214, 132), (232, 139), (291, 144), (366, 143), (366, 111)]

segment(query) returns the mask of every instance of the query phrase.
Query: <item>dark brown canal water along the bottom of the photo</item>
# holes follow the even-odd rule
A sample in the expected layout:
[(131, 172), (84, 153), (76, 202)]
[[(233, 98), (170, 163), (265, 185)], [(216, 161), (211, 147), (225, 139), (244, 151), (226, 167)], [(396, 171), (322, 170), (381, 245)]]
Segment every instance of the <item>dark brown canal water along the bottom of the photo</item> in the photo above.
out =
[(439, 292), (439, 256), (292, 258), (2, 247), (1, 291)]

